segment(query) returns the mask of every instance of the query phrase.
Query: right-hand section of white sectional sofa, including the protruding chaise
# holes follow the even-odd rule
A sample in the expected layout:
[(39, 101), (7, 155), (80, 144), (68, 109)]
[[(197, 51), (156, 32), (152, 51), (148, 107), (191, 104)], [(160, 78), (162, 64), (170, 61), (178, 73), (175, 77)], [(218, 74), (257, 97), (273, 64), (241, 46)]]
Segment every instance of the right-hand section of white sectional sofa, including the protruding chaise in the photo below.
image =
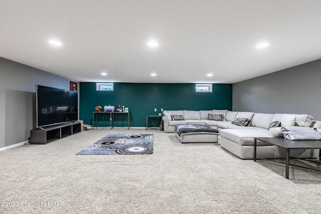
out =
[[(248, 114), (250, 114), (250, 112), (248, 112)], [(269, 129), (269, 125), (273, 121), (280, 121), (281, 126), (321, 127), (320, 121), (313, 121), (313, 117), (306, 114), (252, 113), (252, 115), (250, 126), (237, 126), (232, 123), (218, 124), (218, 130), (221, 135), (221, 147), (242, 159), (253, 159), (254, 137), (283, 137), (281, 127), (272, 127)], [(257, 145), (258, 157), (271, 159), (285, 158), (285, 149), (262, 141), (258, 141)], [(318, 150), (311, 149), (296, 149), (290, 151), (290, 156), (316, 158), (318, 157), (318, 152)]]

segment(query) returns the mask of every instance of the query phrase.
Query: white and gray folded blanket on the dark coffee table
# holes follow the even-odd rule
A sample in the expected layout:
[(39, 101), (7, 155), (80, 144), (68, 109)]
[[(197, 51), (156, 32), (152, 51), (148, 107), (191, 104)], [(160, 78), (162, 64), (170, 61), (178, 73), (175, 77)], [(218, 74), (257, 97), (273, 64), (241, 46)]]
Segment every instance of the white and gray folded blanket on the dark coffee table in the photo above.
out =
[(281, 131), (284, 138), (288, 140), (321, 140), (321, 135), (310, 127), (281, 127)]

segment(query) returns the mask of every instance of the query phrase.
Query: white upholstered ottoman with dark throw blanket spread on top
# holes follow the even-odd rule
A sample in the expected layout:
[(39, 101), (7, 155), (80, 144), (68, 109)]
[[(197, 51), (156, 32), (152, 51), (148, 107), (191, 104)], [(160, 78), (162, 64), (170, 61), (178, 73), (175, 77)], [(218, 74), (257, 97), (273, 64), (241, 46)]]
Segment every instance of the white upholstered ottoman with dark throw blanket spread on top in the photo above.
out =
[(217, 143), (219, 132), (207, 125), (176, 125), (175, 134), (181, 143)]

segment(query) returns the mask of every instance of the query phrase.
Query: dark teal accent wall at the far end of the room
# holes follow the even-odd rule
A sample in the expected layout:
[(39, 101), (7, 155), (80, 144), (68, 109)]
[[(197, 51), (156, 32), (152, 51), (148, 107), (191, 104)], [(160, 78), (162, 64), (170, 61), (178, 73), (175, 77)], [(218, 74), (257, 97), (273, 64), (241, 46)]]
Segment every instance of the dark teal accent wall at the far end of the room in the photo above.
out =
[[(212, 93), (195, 92), (192, 83), (114, 83), (114, 91), (96, 91), (96, 83), (80, 83), (79, 119), (92, 124), (95, 106), (124, 105), (129, 108), (130, 126), (145, 127), (146, 115), (164, 110), (232, 110), (232, 84), (213, 84)], [(154, 109), (157, 109), (154, 112)], [(103, 117), (103, 115), (105, 115)], [(115, 115), (115, 126), (127, 126), (127, 116)], [(104, 120), (104, 122), (103, 122)], [(109, 126), (109, 114), (98, 117), (98, 126)], [(159, 125), (152, 119), (151, 126)], [(157, 124), (157, 125), (156, 125)], [(149, 125), (149, 123), (148, 123)]]

